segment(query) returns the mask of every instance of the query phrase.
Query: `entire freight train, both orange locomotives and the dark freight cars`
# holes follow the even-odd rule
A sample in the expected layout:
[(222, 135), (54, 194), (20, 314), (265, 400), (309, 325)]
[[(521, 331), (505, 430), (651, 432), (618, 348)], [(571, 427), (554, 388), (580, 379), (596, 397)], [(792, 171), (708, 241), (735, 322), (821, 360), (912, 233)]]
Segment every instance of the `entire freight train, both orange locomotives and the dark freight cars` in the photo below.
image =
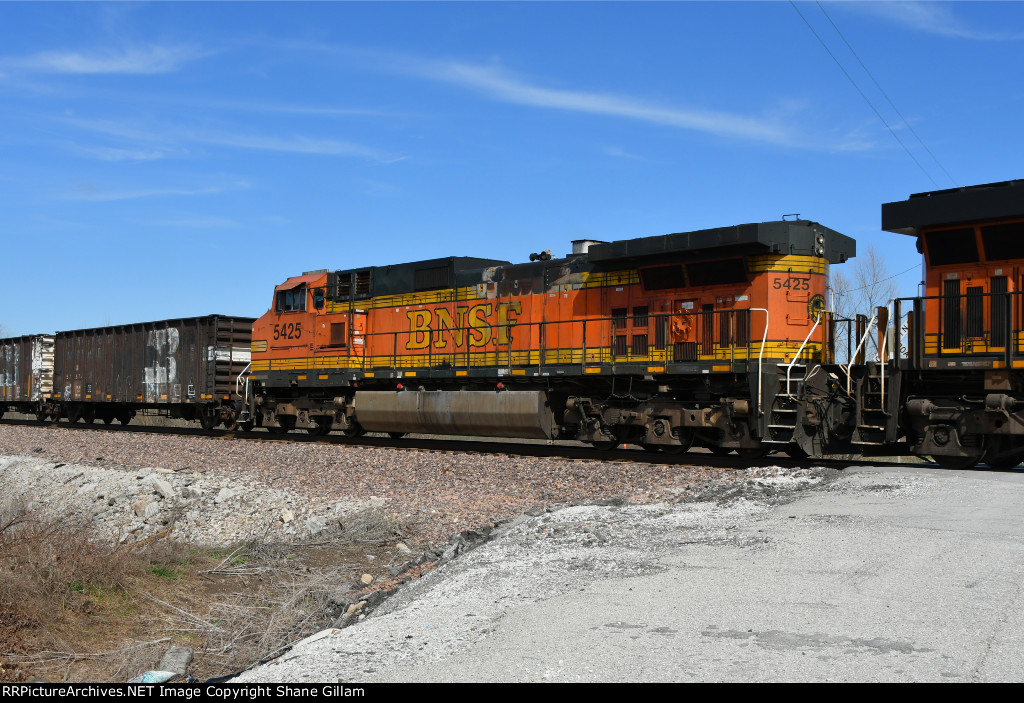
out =
[(916, 237), (925, 295), (856, 320), (826, 305), (855, 243), (815, 222), (580, 240), (308, 272), (255, 321), (0, 340), (0, 414), (1017, 466), (1024, 181), (918, 193), (882, 221)]

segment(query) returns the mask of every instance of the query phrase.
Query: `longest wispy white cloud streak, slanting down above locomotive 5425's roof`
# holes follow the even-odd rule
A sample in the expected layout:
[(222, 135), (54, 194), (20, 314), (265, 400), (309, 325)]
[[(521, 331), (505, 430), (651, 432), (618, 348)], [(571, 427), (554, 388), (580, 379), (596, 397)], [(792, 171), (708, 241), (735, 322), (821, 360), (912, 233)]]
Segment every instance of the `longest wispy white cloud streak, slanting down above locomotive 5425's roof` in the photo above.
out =
[(543, 87), (496, 67), (454, 61), (400, 61), (400, 63), (407, 71), (425, 78), (462, 85), (505, 102), (628, 118), (775, 144), (792, 143), (795, 139), (795, 135), (784, 125), (760, 117), (658, 105), (610, 93)]

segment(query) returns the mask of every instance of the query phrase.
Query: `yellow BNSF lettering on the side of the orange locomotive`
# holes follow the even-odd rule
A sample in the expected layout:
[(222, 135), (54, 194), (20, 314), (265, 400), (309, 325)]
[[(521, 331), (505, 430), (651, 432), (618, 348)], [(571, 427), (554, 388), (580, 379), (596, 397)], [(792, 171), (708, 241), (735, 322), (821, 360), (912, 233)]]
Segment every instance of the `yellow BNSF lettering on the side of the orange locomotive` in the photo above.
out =
[(517, 324), (515, 315), (521, 313), (519, 302), (460, 305), (454, 315), (447, 308), (410, 310), (406, 313), (409, 316), (406, 349), (426, 349), (431, 341), (435, 349), (445, 349), (453, 342), (458, 348), (467, 339), (470, 347), (483, 347), (493, 339), (498, 344), (510, 344), (512, 327)]

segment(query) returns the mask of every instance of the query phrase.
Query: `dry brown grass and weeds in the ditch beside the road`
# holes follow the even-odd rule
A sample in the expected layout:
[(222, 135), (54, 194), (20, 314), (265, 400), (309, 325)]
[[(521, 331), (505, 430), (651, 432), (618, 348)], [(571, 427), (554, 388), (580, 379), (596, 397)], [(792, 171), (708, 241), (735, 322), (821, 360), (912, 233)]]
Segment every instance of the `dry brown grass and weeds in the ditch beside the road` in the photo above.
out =
[(195, 650), (198, 678), (240, 671), (331, 626), (337, 600), (359, 587), (368, 565), (395, 560), (402, 528), (372, 510), (314, 545), (268, 544), (257, 534), (225, 550), (166, 539), (119, 546), (74, 520), (8, 506), (0, 510), (0, 680), (123, 682), (156, 667), (172, 645)]

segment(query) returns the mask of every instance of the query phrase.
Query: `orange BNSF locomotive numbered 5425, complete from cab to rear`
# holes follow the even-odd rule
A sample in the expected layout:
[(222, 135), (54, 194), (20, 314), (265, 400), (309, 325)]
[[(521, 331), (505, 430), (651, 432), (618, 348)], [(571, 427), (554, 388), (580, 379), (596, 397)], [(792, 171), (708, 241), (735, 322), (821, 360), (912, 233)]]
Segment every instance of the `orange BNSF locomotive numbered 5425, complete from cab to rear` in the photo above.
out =
[(813, 450), (798, 416), (830, 361), (829, 263), (806, 220), (316, 271), (253, 326), (244, 426)]

